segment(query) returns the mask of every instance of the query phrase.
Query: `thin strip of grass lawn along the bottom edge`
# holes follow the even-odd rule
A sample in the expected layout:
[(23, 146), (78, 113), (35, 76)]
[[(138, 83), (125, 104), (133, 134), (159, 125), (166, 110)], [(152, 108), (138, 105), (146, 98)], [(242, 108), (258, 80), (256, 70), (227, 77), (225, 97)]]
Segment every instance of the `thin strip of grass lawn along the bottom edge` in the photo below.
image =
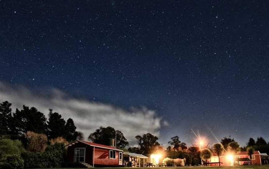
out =
[[(106, 168), (99, 168), (97, 169), (131, 169), (129, 167), (106, 167)], [(134, 169), (269, 169), (269, 165), (262, 165), (262, 166), (230, 166), (230, 167), (141, 167), (141, 168), (134, 168)], [(81, 168), (50, 168), (50, 169), (81, 169)]]

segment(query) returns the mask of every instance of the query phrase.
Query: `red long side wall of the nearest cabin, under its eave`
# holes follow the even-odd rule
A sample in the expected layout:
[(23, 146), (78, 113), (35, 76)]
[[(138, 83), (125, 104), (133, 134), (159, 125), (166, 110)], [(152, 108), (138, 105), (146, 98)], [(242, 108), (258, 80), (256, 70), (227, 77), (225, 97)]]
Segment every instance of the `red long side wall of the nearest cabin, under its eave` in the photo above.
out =
[(99, 165), (119, 165), (119, 152), (116, 151), (116, 159), (109, 158), (109, 150), (104, 148), (94, 148), (94, 164)]

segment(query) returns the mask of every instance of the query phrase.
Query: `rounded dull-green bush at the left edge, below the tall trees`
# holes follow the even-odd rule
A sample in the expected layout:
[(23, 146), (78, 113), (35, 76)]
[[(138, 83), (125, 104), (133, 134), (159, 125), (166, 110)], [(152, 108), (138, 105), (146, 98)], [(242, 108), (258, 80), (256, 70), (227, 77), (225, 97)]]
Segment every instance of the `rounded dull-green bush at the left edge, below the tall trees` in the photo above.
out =
[(0, 160), (7, 155), (21, 154), (24, 151), (21, 141), (0, 139)]

